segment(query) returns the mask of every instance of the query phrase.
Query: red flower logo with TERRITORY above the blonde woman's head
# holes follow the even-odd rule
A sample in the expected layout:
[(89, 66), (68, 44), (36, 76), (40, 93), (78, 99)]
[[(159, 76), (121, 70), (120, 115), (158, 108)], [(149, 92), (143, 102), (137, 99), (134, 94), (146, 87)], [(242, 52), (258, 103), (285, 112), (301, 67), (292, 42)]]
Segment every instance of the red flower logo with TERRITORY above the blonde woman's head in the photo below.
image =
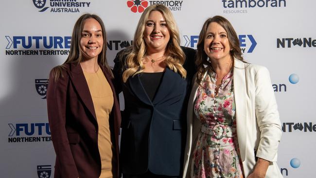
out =
[(183, 0), (127, 0), (127, 7), (134, 13), (142, 13), (148, 5), (163, 4), (171, 11), (181, 11)]

